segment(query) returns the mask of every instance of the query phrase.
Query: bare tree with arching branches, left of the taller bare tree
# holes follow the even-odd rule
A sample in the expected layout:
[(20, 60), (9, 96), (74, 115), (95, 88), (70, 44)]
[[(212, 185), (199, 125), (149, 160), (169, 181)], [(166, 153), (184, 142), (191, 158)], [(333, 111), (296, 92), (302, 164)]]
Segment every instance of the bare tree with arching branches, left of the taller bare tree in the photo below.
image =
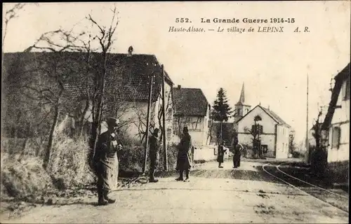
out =
[[(82, 35), (82, 34), (80, 34)], [(61, 43), (54, 41), (58, 38)], [(27, 92), (27, 97), (36, 99), (41, 102), (41, 105), (48, 105), (51, 107), (50, 111), (53, 112), (53, 123), (48, 137), (48, 145), (44, 155), (43, 167), (47, 169), (48, 162), (51, 157), (51, 148), (53, 146), (53, 137), (55, 127), (58, 125), (58, 119), (64, 103), (62, 102), (63, 94), (65, 93), (65, 83), (69, 81), (69, 67), (65, 58), (65, 52), (74, 50), (76, 48), (77, 37), (74, 37), (70, 32), (58, 29), (56, 31), (49, 31), (42, 34), (40, 38), (25, 50), (44, 50), (41, 52), (41, 57), (36, 57), (37, 77), (43, 78), (44, 82), (27, 83), (23, 85)]]

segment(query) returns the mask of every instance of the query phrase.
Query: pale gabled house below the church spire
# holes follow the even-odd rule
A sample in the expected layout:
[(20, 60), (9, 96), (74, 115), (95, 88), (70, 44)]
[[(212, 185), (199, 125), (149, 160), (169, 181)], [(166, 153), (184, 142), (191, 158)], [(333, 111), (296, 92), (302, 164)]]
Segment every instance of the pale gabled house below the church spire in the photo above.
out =
[[(257, 116), (260, 119), (255, 122)], [(256, 138), (260, 142), (264, 157), (288, 158), (291, 126), (277, 113), (257, 105), (237, 120), (237, 138), (241, 144), (253, 147), (251, 133), (255, 133), (255, 130), (258, 130)]]

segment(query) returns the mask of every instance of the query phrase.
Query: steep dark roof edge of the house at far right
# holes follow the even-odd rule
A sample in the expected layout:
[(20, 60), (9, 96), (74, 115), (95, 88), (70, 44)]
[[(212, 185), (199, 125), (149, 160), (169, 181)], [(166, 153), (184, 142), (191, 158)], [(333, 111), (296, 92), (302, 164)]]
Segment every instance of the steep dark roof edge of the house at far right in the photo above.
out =
[(324, 118), (322, 130), (329, 130), (331, 120), (333, 119), (333, 114), (336, 109), (336, 104), (338, 103), (340, 90), (343, 87), (343, 82), (347, 80), (347, 78), (350, 79), (350, 63), (347, 64), (347, 66), (345, 66), (345, 68), (341, 70), (334, 78), (335, 85), (331, 91), (331, 101), (329, 102), (328, 111), (326, 112), (326, 116)]

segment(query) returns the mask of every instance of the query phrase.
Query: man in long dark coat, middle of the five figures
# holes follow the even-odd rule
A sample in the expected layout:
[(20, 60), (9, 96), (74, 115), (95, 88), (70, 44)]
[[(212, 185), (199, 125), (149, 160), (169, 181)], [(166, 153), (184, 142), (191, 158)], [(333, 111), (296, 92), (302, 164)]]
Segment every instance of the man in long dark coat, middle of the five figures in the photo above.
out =
[[(176, 170), (179, 171), (179, 177), (176, 181), (189, 181), (189, 173), (191, 168), (190, 149), (192, 148), (192, 137), (189, 134), (187, 127), (183, 128), (183, 137), (178, 145), (178, 160)], [(183, 179), (185, 171), (186, 179)]]

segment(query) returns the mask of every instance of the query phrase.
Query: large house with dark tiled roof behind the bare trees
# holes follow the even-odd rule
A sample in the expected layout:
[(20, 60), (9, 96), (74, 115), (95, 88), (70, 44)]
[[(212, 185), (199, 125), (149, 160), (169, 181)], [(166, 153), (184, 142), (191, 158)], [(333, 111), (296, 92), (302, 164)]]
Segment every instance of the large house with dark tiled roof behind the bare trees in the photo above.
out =
[[(86, 59), (89, 57), (90, 67), (86, 69)], [(15, 52), (4, 54), (4, 66), (9, 76), (19, 73), (22, 82), (28, 81), (27, 85), (36, 88), (50, 88), (54, 94), (58, 91), (58, 85), (49, 80), (45, 73), (39, 72), (37, 66), (50, 69), (48, 64), (53, 61), (58, 64), (58, 72), (62, 75), (64, 93), (62, 94), (63, 114), (60, 121), (70, 120), (71, 126), (77, 127), (77, 121), (84, 116), (84, 123), (91, 123), (91, 99), (94, 97), (93, 73), (99, 67), (101, 54), (91, 53), (87, 57), (84, 52)], [(17, 69), (20, 66), (21, 69)], [(41, 70), (43, 70), (41, 68)], [(16, 74), (15, 74), (16, 75)], [(107, 73), (105, 82), (105, 98), (103, 118), (117, 117), (121, 120), (123, 129), (131, 137), (143, 138), (146, 131), (147, 104), (149, 99), (150, 76), (152, 83), (152, 105), (150, 129), (162, 125), (162, 83), (161, 64), (155, 55), (110, 53), (107, 57)], [(27, 78), (25, 78), (27, 77)], [(171, 139), (173, 133), (173, 82), (164, 73), (165, 102), (166, 102), (166, 132), (167, 138)], [(22, 84), (21, 84), (22, 85)], [(81, 114), (81, 111), (84, 111)], [(78, 112), (77, 112), (78, 111)], [(78, 113), (78, 114), (77, 114)], [(75, 120), (74, 120), (75, 118)], [(74, 125), (76, 124), (76, 125)], [(62, 125), (61, 125), (62, 126)], [(102, 127), (103, 131), (104, 127)]]

